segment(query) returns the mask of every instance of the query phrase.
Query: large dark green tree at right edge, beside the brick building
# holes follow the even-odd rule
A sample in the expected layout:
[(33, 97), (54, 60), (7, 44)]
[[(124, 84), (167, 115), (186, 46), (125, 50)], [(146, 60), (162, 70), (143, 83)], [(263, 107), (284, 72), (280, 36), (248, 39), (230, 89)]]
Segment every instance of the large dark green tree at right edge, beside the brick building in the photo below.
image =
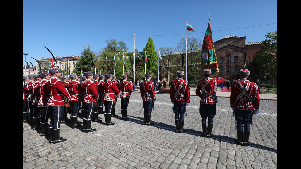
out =
[(261, 50), (256, 52), (252, 62), (248, 66), (248, 69), (251, 71), (249, 78), (251, 81), (264, 79), (264, 75), (266, 75), (267, 78), (271, 78), (271, 81), (277, 78), (277, 31), (267, 33), (265, 37), (267, 39), (263, 41)]

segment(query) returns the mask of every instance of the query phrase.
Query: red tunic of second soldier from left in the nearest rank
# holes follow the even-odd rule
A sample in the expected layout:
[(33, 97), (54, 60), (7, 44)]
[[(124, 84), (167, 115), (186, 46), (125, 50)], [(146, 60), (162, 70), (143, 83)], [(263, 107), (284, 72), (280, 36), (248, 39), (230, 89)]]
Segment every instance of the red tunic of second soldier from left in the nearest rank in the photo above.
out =
[(90, 80), (87, 79), (83, 83), (83, 88), (84, 88), (84, 103), (92, 103), (96, 102), (98, 99), (98, 92), (96, 90), (95, 84)]

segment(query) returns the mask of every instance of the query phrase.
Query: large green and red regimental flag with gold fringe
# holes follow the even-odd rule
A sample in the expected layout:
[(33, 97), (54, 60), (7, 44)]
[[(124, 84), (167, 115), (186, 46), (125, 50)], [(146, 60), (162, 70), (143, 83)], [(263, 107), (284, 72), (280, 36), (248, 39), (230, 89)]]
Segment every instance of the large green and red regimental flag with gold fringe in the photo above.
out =
[(209, 68), (211, 69), (211, 77), (214, 77), (217, 75), (219, 72), (218, 65), (217, 65), (217, 58), (214, 50), (214, 45), (213, 45), (213, 40), (212, 40), (212, 32), (211, 32), (211, 25), (210, 25), (210, 20), (208, 23), (208, 27), (205, 33), (204, 41), (203, 41), (203, 46), (202, 46), (202, 54), (201, 54), (201, 69), (207, 69), (207, 58), (208, 58), (208, 53), (210, 54), (210, 66)]

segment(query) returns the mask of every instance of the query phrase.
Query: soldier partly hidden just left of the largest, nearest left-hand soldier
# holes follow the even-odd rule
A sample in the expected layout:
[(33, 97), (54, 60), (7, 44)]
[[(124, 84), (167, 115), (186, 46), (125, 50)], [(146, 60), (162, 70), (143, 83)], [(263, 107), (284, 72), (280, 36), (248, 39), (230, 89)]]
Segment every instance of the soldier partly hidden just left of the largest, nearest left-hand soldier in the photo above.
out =
[[(39, 93), (41, 95), (40, 101), (38, 103), (38, 107), (41, 108), (41, 136), (45, 136), (49, 132), (48, 119), (50, 117), (50, 112), (48, 111), (48, 100), (49, 100), (49, 91), (47, 88), (47, 83), (50, 79), (50, 74), (46, 71), (41, 73), (39, 76), (42, 79), (40, 84)], [(52, 133), (51, 133), (52, 135)]]

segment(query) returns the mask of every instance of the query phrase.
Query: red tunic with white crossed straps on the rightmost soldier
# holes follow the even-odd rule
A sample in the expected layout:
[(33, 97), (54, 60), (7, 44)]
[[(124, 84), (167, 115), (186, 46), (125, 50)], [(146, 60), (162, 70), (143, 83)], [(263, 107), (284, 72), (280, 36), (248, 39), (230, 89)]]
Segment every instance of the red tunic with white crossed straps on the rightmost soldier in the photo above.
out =
[[(247, 79), (240, 79), (240, 84), (243, 86), (243, 89), (245, 87), (248, 88), (248, 91), (246, 92), (247, 96), (245, 94), (242, 94), (243, 89), (240, 88), (240, 85), (235, 82), (231, 86), (231, 96), (230, 96), (230, 103), (231, 107), (234, 109), (242, 109), (242, 110), (248, 110), (248, 109), (259, 109), (259, 92), (258, 87), (256, 83), (250, 82)], [(240, 97), (237, 101), (236, 98), (242, 94), (242, 97)], [(249, 100), (250, 97), (253, 97), (252, 100)]]

